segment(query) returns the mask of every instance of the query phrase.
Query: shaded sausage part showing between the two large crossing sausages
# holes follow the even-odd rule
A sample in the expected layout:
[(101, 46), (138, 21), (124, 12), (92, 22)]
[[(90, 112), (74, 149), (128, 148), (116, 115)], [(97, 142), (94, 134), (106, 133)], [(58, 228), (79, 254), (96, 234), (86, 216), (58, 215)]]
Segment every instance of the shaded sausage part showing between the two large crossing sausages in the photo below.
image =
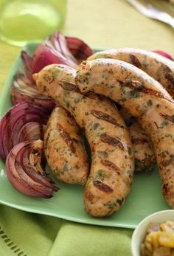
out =
[(153, 145), (139, 122), (125, 108), (119, 110), (128, 127), (135, 158), (135, 171), (151, 171), (156, 162)]

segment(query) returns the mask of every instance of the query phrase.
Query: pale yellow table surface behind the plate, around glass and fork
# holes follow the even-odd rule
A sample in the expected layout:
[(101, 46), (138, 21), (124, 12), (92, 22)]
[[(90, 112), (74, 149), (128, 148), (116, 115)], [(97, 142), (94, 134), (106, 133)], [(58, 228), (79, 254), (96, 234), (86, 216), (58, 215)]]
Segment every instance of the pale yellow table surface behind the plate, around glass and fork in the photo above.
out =
[[(163, 0), (153, 3), (164, 7), (174, 16), (174, 6)], [(144, 17), (125, 0), (68, 0), (63, 34), (81, 38), (93, 48), (161, 49), (174, 55), (174, 30), (166, 24)], [(20, 50), (20, 47), (0, 41), (0, 93)], [(130, 238), (126, 242), (130, 243)]]

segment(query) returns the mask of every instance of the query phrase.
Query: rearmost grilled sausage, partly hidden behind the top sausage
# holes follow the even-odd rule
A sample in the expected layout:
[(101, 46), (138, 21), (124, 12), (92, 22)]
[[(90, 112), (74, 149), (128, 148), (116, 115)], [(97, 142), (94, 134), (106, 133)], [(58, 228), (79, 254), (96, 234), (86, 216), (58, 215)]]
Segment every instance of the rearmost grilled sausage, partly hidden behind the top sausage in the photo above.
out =
[(174, 62), (155, 52), (144, 49), (120, 48), (96, 52), (88, 60), (97, 58), (111, 58), (123, 60), (145, 71), (159, 81), (162, 86), (174, 97)]

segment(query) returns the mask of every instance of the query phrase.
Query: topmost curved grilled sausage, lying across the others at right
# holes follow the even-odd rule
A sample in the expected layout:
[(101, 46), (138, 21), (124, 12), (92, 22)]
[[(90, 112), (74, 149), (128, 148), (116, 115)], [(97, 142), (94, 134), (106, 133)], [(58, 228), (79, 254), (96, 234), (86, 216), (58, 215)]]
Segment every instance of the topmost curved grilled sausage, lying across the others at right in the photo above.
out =
[(94, 91), (125, 107), (150, 135), (159, 165), (162, 192), (174, 207), (174, 101), (163, 86), (121, 60), (84, 61), (77, 70), (80, 91)]

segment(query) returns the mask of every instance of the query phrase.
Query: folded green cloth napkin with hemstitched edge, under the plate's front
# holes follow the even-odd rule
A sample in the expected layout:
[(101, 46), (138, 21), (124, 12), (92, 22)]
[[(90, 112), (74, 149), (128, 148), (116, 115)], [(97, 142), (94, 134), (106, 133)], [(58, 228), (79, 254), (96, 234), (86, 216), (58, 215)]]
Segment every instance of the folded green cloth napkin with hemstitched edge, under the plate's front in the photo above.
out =
[(0, 206), (0, 255), (130, 256), (131, 229), (90, 226)]

